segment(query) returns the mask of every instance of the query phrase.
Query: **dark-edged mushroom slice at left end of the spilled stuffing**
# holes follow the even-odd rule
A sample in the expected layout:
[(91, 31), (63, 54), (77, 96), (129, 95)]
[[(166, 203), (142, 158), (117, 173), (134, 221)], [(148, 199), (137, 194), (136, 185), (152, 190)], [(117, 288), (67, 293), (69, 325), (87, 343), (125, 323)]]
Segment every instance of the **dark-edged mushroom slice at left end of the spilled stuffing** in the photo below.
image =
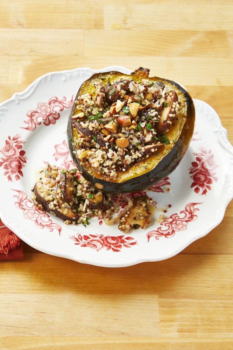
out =
[[(73, 211), (70, 208), (65, 208), (66, 202), (64, 200), (64, 198), (60, 198), (57, 203), (59, 208), (57, 209), (51, 209), (49, 207), (49, 203), (51, 203), (51, 200), (46, 200), (46, 196), (42, 196), (42, 194), (44, 195), (45, 193), (45, 186), (41, 186), (41, 182), (37, 182), (34, 186), (34, 192), (36, 195), (36, 201), (42, 205), (42, 207), (47, 210), (50, 211), (52, 213), (54, 213), (57, 217), (59, 217), (62, 220), (70, 220), (70, 221), (76, 221), (78, 219), (78, 216), (76, 214), (73, 213)], [(60, 203), (60, 201), (62, 203)], [(64, 204), (64, 205), (63, 205)]]

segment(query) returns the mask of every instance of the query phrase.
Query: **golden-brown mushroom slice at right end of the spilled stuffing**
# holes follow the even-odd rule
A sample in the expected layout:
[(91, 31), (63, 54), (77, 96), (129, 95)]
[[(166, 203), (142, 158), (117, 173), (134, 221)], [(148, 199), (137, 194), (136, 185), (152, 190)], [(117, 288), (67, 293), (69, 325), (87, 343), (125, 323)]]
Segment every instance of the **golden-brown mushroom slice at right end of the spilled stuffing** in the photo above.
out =
[(133, 206), (124, 216), (118, 225), (118, 229), (124, 232), (128, 232), (131, 228), (136, 228), (134, 225), (141, 226), (144, 229), (150, 224), (150, 212), (148, 211), (147, 204), (149, 198), (147, 196), (138, 196), (133, 200)]

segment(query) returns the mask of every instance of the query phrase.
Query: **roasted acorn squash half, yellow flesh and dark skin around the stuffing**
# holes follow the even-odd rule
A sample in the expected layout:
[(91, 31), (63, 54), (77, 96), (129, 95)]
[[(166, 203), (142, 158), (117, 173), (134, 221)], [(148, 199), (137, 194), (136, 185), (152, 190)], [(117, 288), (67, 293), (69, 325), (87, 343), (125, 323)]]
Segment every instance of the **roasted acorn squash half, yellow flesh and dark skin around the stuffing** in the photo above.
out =
[[(170, 99), (173, 102), (176, 102), (177, 99), (179, 100), (180, 110), (176, 114), (176, 118), (169, 118), (172, 107), (172, 105), (169, 103), (163, 103), (161, 110), (159, 110), (159, 121), (155, 126), (157, 131), (156, 142), (158, 142), (156, 152), (150, 152), (151, 145), (149, 143), (149, 145), (145, 146), (145, 149), (147, 150), (146, 152), (149, 156), (144, 159), (144, 161), (138, 160), (136, 163), (126, 169), (126, 171), (118, 171), (116, 178), (108, 180), (106, 180), (104, 174), (96, 171), (96, 169), (90, 166), (89, 163), (86, 162), (85, 166), (80, 164), (80, 159), (76, 154), (79, 147), (78, 145), (75, 145), (75, 139), (77, 138), (78, 134), (83, 132), (83, 130), (80, 130), (80, 120), (75, 119), (75, 116), (77, 113), (79, 114), (80, 111), (78, 110), (77, 102), (74, 102), (67, 126), (68, 148), (74, 163), (77, 165), (80, 172), (82, 172), (82, 176), (88, 182), (90, 182), (93, 187), (103, 192), (112, 194), (137, 192), (152, 186), (175, 170), (189, 147), (195, 124), (195, 107), (191, 96), (186, 90), (183, 89), (183, 87), (171, 80), (158, 77), (148, 77), (148, 75), (149, 70), (141, 67), (132, 72), (130, 75), (126, 75), (118, 71), (96, 73), (81, 85), (76, 95), (75, 100), (78, 98), (78, 96), (88, 92), (92, 94), (95, 104), (99, 104), (99, 106), (101, 106), (101, 103), (105, 103), (105, 105), (108, 103), (109, 107), (111, 107), (111, 105), (114, 105), (114, 103), (116, 103), (115, 101), (117, 100), (117, 96), (115, 96), (116, 91), (112, 92), (115, 85), (112, 84), (115, 84), (115, 82), (119, 82), (120, 80), (122, 82), (122, 89), (126, 91), (123, 93), (123, 95), (126, 94), (127, 96), (127, 93), (129, 95), (133, 95), (134, 92), (132, 89), (130, 90), (129, 87), (124, 85), (125, 81), (128, 81), (128, 84), (131, 81), (141, 84), (143, 83), (142, 79), (148, 79), (152, 85), (153, 83), (158, 85), (158, 89), (165, 86), (166, 90), (170, 92)], [(95, 96), (94, 89), (94, 83), (96, 84), (96, 81), (102, 81), (105, 86), (107, 86), (104, 96), (105, 102), (100, 100), (97, 101), (97, 95)], [(150, 96), (148, 96), (147, 102), (151, 103)], [(143, 105), (140, 105), (140, 109), (143, 109)], [(142, 113), (142, 111), (140, 113)], [(131, 119), (133, 118), (130, 113), (128, 113), (128, 115), (131, 116)], [(170, 114), (170, 116), (172, 116), (172, 114)], [(85, 120), (85, 117), (81, 120)], [(137, 119), (134, 118), (134, 120)], [(91, 136), (87, 137), (93, 138), (93, 133), (89, 132), (89, 134)], [(96, 137), (94, 138), (96, 139)], [(104, 141), (102, 144), (102, 138), (101, 140), (98, 140), (100, 141), (100, 147), (104, 147), (106, 141)], [(169, 141), (172, 141), (172, 143)]]

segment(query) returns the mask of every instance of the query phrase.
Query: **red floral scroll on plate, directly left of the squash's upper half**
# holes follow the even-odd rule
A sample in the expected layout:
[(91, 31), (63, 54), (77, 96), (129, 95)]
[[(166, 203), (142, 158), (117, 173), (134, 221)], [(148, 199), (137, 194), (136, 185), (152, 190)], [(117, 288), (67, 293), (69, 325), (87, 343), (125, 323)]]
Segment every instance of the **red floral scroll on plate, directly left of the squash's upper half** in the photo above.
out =
[(37, 125), (41, 125), (41, 120), (43, 120), (44, 125), (55, 124), (56, 121), (60, 118), (61, 111), (64, 108), (70, 108), (73, 106), (73, 96), (70, 101), (67, 101), (65, 96), (63, 99), (59, 100), (57, 97), (52, 97), (49, 100), (49, 103), (39, 102), (37, 109), (35, 111), (29, 111), (27, 113), (28, 120), (24, 120), (25, 124), (28, 124), (27, 127), (23, 129), (33, 131), (36, 129)]

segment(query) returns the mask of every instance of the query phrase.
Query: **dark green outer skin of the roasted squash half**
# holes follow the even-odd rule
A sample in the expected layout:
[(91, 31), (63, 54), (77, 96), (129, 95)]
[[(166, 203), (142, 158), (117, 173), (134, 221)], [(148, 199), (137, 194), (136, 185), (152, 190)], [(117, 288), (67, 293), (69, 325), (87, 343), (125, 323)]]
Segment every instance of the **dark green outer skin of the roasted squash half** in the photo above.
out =
[[(107, 72), (107, 73), (110, 73), (110, 72)], [(97, 73), (94, 76), (98, 77), (100, 74), (102, 75), (103, 73)], [(154, 78), (157, 78), (157, 77), (154, 77)], [(173, 82), (172, 80), (160, 79), (160, 78), (158, 78), (158, 80), (172, 83), (182, 92), (182, 94), (185, 97), (186, 104), (187, 104), (187, 117), (183, 125), (180, 137), (177, 139), (177, 142), (174, 145), (174, 147), (171, 149), (171, 151), (169, 151), (169, 153), (152, 170), (150, 170), (146, 174), (136, 176), (132, 179), (126, 180), (121, 183), (104, 181), (102, 179), (97, 179), (93, 177), (80, 165), (79, 159), (75, 157), (73, 153), (73, 151), (75, 151), (75, 148), (73, 146), (72, 118), (71, 118), (75, 107), (73, 105), (69, 119), (68, 119), (68, 125), (67, 125), (68, 148), (69, 148), (71, 157), (73, 159), (73, 162), (77, 165), (79, 171), (82, 173), (82, 176), (89, 183), (91, 183), (93, 187), (97, 187), (102, 192), (115, 194), (115, 193), (138, 192), (138, 191), (147, 189), (153, 184), (164, 179), (170, 173), (172, 173), (175, 170), (175, 168), (179, 165), (181, 159), (183, 158), (185, 152), (188, 149), (190, 141), (192, 139), (192, 134), (194, 132), (194, 124), (195, 124), (195, 107), (194, 107), (192, 98), (190, 94), (183, 89), (183, 87)], [(79, 91), (74, 101), (77, 99), (78, 94), (79, 94)], [(146, 166), (146, 161), (144, 164)], [(98, 185), (95, 186), (95, 184), (98, 184)], [(99, 186), (99, 184), (101, 186)]]

